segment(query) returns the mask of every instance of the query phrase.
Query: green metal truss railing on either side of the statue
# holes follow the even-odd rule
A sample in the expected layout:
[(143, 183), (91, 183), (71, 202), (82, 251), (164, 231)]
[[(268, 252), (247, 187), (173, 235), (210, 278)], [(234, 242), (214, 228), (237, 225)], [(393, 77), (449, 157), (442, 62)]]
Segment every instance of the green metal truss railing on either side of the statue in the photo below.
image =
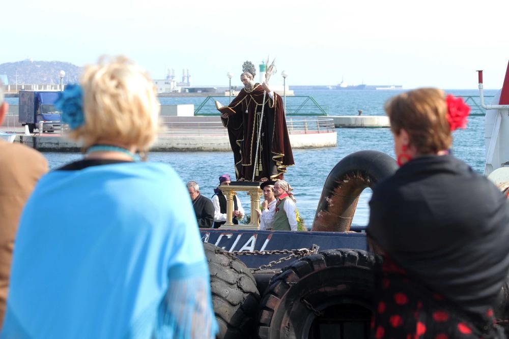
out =
[[(228, 97), (209, 96), (194, 109), (194, 115), (219, 115), (216, 100), (224, 106), (229, 103)], [(318, 104), (311, 96), (289, 96), (286, 97), (286, 115), (329, 115), (329, 107)]]

